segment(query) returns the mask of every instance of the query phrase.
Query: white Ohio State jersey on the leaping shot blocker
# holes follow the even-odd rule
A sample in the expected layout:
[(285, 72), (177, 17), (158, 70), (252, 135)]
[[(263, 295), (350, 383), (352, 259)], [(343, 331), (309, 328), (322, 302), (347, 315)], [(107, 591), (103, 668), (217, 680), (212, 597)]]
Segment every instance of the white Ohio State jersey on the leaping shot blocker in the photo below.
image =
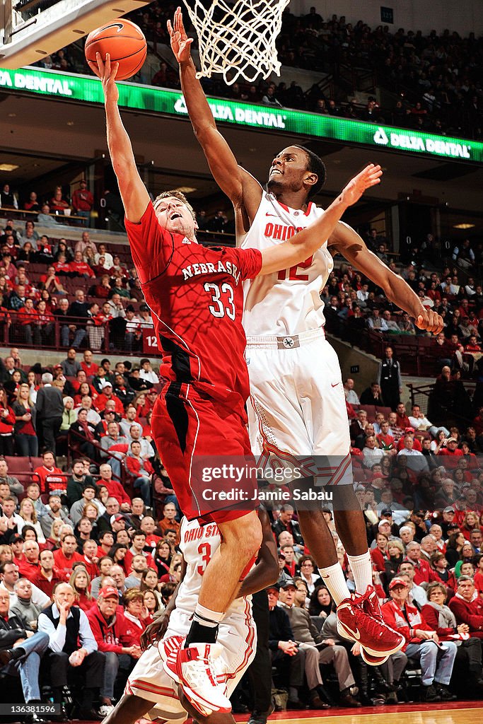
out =
[[(281, 244), (322, 216), (323, 209), (309, 202), (307, 210), (290, 209), (271, 193), (262, 193), (253, 224), (241, 248), (263, 251)], [(322, 240), (321, 240), (322, 242)], [(285, 337), (323, 327), (324, 303), (320, 292), (334, 261), (327, 240), (298, 266), (244, 282), (243, 327), (250, 337)]]

